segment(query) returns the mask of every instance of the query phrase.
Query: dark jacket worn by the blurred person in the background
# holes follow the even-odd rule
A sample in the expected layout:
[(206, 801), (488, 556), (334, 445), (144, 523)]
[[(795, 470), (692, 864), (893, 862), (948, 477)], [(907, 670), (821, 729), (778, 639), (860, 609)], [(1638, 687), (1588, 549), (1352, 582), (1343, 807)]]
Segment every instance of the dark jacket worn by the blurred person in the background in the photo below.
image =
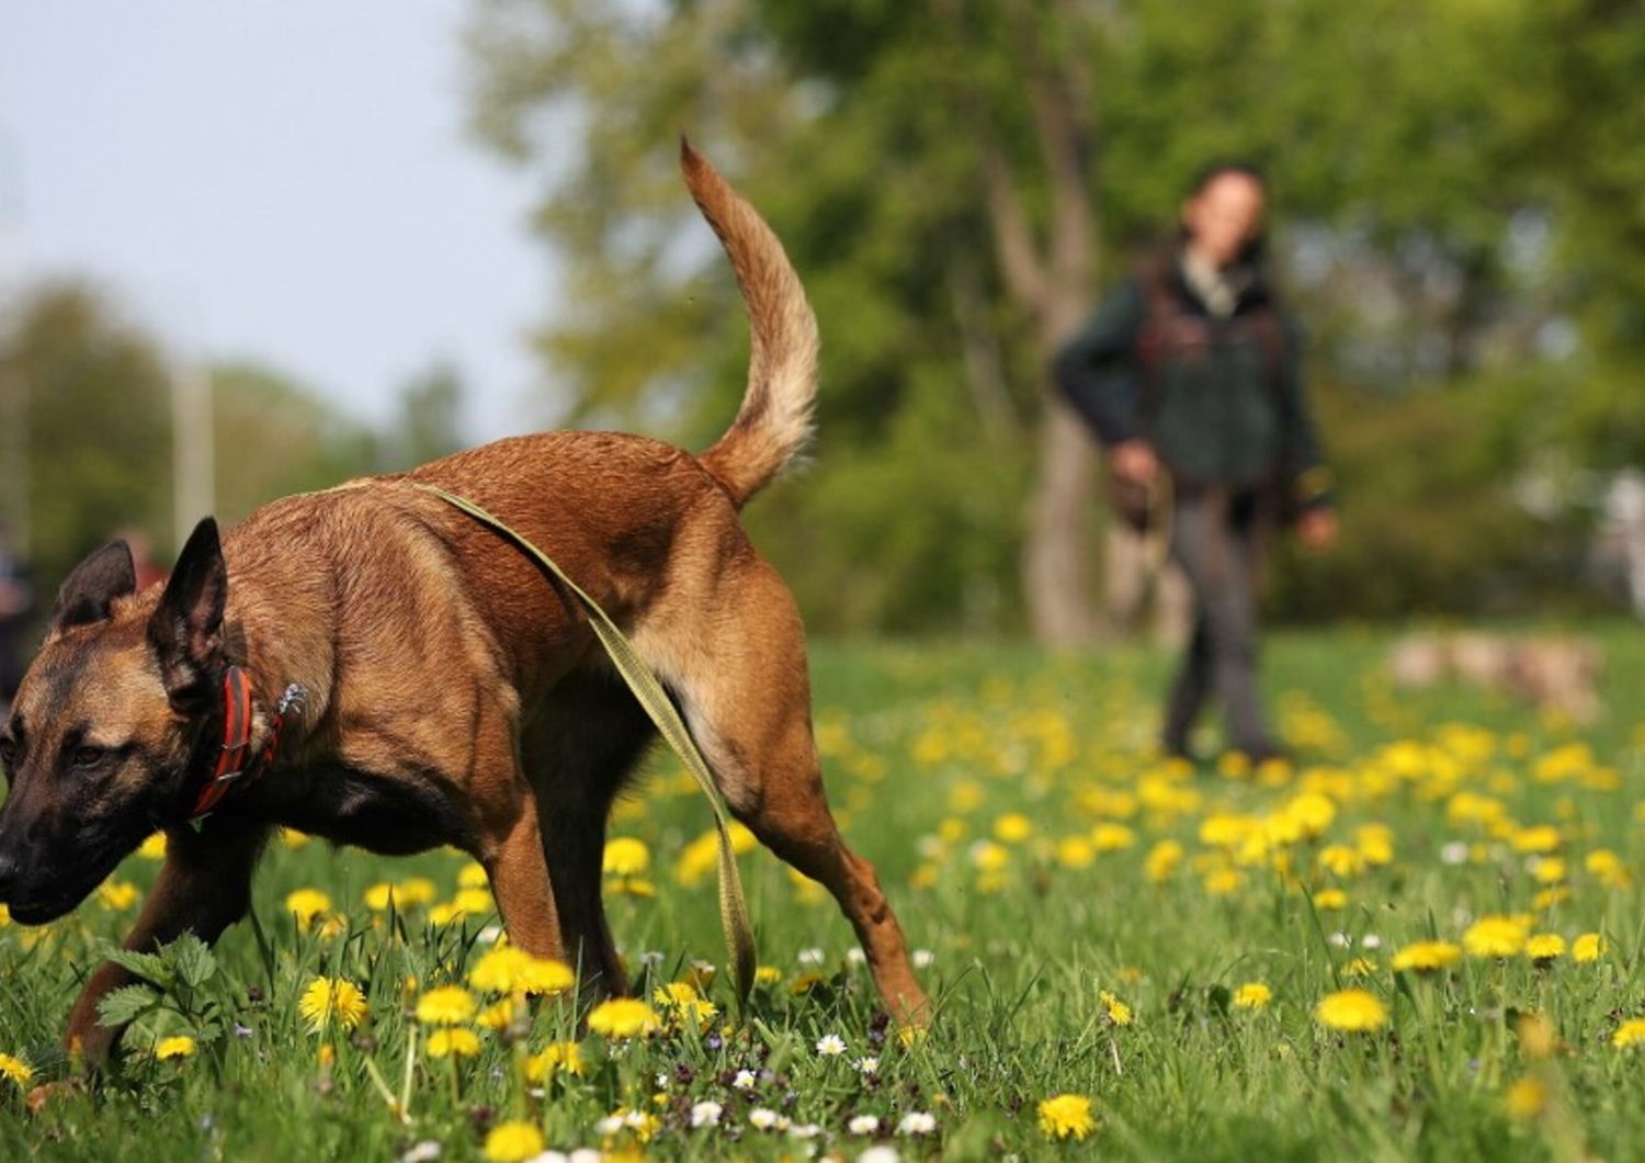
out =
[(1104, 444), (1142, 438), (1179, 490), (1280, 487), (1331, 502), (1301, 342), (1260, 270), (1214, 316), (1176, 260), (1142, 266), (1056, 359), (1056, 380)]

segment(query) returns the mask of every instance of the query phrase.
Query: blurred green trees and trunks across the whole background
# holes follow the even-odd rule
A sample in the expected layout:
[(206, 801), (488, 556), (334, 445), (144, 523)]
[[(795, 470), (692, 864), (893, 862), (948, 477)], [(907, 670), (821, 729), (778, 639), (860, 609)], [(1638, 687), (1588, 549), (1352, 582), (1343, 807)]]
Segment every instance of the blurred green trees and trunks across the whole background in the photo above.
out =
[[(462, 49), (475, 140), (541, 186), (564, 296), (533, 344), (563, 423), (702, 447), (735, 413), (745, 326), (679, 132), (786, 242), (822, 326), (819, 442), (748, 523), (818, 630), (1101, 627), (1094, 447), (1046, 359), (1229, 156), (1273, 179), (1344, 507), (1332, 558), (1278, 561), (1272, 612), (1624, 592), (1594, 546), (1645, 462), (1637, 5), (472, 0)], [(160, 341), (38, 288), (0, 370), (30, 393), (43, 577), (117, 525), (164, 530)], [(212, 382), (230, 520), (464, 442), (454, 368), (380, 431), (271, 368)]]

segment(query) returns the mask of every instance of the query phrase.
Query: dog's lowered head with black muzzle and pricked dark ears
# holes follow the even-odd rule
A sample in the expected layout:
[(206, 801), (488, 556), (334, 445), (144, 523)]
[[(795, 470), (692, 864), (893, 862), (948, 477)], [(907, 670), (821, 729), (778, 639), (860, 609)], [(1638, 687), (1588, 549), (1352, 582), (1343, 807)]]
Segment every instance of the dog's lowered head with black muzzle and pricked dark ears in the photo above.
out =
[(123, 541), (86, 558), (0, 725), (0, 903), (25, 924), (79, 905), (156, 824), (179, 819), (224, 666), (229, 577), (201, 521), (158, 605)]

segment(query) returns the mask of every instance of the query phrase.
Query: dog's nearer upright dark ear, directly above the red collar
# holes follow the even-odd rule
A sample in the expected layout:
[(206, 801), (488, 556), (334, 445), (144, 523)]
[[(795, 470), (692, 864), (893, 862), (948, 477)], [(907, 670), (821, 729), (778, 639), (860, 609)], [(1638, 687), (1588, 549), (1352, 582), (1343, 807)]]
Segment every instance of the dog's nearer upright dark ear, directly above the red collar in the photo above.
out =
[(217, 521), (194, 526), (178, 564), (148, 620), (148, 642), (160, 660), (166, 694), (176, 707), (211, 697), (211, 679), (222, 661), (222, 612), (229, 599), (229, 568), (222, 561)]

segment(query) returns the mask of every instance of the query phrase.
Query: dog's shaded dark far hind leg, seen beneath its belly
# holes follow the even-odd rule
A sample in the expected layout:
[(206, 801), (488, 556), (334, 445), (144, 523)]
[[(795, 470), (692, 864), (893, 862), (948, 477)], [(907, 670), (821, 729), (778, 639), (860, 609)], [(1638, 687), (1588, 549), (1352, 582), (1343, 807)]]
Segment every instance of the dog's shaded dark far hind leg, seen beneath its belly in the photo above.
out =
[(554, 686), (526, 727), (523, 750), (566, 956), (584, 990), (602, 997), (628, 992), (600, 897), (605, 821), (656, 732), (622, 679), (595, 666)]

